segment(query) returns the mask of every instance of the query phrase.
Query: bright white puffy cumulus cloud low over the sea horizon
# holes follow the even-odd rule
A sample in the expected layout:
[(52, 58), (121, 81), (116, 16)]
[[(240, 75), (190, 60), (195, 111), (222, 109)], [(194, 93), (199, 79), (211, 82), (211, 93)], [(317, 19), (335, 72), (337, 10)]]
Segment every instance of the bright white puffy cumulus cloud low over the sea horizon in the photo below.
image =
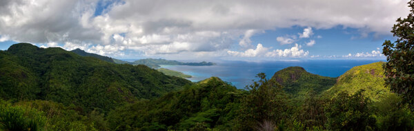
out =
[(304, 51), (300, 49), (301, 46), (295, 44), (294, 47), (290, 49), (275, 49), (269, 51), (269, 48), (263, 47), (262, 44), (257, 44), (256, 49), (247, 49), (244, 52), (239, 51), (227, 51), (230, 56), (238, 57), (288, 57), (288, 58), (299, 58), (308, 56), (309, 51)]

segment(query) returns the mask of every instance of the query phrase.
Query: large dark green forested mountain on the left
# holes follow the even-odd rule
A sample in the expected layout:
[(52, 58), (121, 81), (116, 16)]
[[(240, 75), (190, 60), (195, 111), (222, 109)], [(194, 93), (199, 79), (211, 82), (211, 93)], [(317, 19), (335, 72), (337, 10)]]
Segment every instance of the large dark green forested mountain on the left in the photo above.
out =
[(75, 104), (86, 112), (105, 112), (124, 102), (152, 99), (191, 84), (144, 65), (115, 64), (28, 43), (0, 51), (0, 61), (3, 99), (46, 99)]

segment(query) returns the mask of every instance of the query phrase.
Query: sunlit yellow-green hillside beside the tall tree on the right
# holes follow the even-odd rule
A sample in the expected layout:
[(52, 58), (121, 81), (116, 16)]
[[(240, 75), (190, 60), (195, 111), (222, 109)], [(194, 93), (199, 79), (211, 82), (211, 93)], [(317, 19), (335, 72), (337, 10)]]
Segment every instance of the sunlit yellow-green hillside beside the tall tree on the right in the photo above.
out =
[(373, 100), (385, 97), (391, 92), (389, 88), (384, 87), (384, 70), (382, 69), (384, 62), (375, 62), (353, 67), (339, 76), (337, 83), (326, 91), (327, 95), (335, 96), (337, 93), (347, 91), (348, 93), (356, 93), (360, 89), (364, 90), (364, 95)]

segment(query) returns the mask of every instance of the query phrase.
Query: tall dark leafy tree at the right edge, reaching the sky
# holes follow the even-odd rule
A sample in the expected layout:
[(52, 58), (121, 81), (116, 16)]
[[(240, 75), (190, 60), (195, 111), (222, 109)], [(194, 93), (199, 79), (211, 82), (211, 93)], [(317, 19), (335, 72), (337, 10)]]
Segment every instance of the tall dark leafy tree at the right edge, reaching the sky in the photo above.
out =
[(397, 19), (391, 32), (397, 37), (394, 43), (385, 40), (383, 53), (386, 56), (384, 75), (386, 86), (402, 95), (404, 102), (414, 105), (414, 1), (408, 2), (411, 13)]

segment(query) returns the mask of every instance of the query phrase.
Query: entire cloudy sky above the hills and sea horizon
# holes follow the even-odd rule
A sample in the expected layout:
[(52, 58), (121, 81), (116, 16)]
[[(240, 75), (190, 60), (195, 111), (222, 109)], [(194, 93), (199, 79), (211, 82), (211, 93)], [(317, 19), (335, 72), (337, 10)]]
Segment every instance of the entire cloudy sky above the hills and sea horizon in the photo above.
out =
[(384, 59), (406, 0), (1, 0), (14, 43), (119, 59)]

